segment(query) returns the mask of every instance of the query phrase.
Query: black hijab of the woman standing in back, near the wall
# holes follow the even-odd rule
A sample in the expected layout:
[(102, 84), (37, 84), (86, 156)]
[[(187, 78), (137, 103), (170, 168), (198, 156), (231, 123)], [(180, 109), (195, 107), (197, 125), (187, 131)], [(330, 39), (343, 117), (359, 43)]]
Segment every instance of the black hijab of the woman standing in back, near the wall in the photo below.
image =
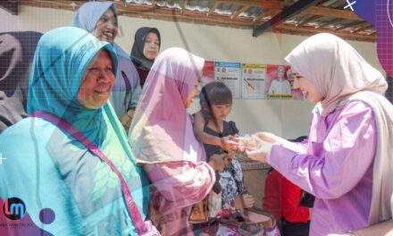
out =
[(130, 55), (132, 62), (137, 67), (144, 67), (147, 70), (150, 70), (150, 67), (152, 67), (152, 64), (155, 62), (155, 60), (147, 59), (146, 56), (143, 54), (145, 40), (149, 33), (155, 33), (157, 35), (158, 46), (161, 47), (160, 31), (158, 31), (156, 28), (142, 27), (139, 28), (135, 33), (134, 45), (132, 46), (131, 55)]

